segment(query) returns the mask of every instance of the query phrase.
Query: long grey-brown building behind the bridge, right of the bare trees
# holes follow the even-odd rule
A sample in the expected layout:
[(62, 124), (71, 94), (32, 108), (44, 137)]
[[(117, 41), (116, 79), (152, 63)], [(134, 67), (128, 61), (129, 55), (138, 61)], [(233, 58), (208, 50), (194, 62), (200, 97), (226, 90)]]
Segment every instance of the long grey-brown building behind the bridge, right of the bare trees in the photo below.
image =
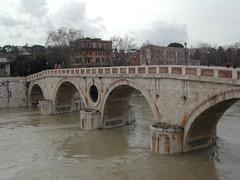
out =
[(140, 64), (191, 64), (189, 49), (146, 45), (140, 49)]

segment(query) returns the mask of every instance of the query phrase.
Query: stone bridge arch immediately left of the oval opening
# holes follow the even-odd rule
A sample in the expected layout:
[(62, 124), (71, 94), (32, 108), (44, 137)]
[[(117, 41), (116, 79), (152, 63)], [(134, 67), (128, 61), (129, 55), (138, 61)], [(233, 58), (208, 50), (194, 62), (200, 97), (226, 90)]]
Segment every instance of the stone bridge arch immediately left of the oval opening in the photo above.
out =
[(72, 112), (84, 109), (86, 100), (77, 82), (63, 79), (55, 88), (53, 105), (55, 113)]

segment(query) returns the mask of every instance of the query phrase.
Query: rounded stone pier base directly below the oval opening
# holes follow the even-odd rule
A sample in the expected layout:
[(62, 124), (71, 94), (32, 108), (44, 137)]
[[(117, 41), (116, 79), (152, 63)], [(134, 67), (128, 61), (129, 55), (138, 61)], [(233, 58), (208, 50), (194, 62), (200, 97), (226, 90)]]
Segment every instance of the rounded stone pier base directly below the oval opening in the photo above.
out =
[(80, 111), (80, 127), (85, 130), (101, 128), (101, 113), (94, 109)]

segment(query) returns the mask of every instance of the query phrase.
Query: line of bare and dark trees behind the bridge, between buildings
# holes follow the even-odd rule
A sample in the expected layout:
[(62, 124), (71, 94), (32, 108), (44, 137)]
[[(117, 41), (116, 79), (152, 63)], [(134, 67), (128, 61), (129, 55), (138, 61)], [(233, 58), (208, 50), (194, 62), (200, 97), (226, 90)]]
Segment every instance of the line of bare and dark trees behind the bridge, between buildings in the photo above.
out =
[[(5, 45), (0, 47), (0, 57), (6, 57), (10, 60), (12, 76), (27, 76), (42, 70), (52, 69), (55, 64), (69, 68), (70, 42), (80, 38), (84, 38), (81, 30), (61, 27), (56, 31), (48, 32), (45, 46)], [(113, 42), (113, 56), (126, 58), (131, 49), (137, 48), (137, 43), (130, 36), (113, 36), (111, 41)], [(151, 43), (147, 42), (142, 46), (147, 44)], [(199, 60), (200, 65), (237, 67), (240, 65), (240, 42), (226, 47), (200, 44), (198, 48), (191, 48), (190, 54), (191, 59)], [(120, 61), (113, 65), (126, 64)]]

